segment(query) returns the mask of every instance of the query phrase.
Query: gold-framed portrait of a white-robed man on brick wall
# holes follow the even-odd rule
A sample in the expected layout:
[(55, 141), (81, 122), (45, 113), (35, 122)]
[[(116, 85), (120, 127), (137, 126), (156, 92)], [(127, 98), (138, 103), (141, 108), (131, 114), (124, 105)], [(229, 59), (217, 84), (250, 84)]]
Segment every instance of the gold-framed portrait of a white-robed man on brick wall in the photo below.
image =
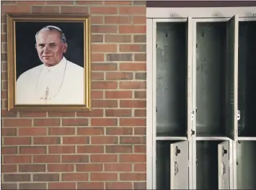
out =
[(8, 109), (90, 110), (87, 15), (7, 15)]

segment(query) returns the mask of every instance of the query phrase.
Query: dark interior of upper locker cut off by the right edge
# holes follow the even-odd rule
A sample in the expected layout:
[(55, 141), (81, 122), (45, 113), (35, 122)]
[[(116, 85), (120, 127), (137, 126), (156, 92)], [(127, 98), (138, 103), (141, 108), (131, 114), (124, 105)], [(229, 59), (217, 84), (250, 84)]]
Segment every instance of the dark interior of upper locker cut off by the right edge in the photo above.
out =
[(256, 22), (239, 22), (238, 122), (239, 136), (256, 136)]

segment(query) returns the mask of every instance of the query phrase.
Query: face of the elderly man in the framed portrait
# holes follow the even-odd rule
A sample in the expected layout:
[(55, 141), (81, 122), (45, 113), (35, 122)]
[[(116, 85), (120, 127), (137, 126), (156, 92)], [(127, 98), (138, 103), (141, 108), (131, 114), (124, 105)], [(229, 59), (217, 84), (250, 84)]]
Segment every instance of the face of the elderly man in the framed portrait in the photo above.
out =
[(67, 44), (61, 42), (60, 32), (43, 29), (37, 34), (36, 49), (40, 60), (50, 67), (62, 60), (63, 53), (66, 53)]

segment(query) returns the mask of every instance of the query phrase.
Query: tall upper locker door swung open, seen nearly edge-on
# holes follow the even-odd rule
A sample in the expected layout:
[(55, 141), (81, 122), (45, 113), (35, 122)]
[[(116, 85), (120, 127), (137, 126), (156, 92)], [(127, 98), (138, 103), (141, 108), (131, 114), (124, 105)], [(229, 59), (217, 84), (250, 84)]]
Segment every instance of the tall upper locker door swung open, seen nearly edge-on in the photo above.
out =
[(238, 16), (227, 23), (226, 33), (226, 134), (237, 140)]

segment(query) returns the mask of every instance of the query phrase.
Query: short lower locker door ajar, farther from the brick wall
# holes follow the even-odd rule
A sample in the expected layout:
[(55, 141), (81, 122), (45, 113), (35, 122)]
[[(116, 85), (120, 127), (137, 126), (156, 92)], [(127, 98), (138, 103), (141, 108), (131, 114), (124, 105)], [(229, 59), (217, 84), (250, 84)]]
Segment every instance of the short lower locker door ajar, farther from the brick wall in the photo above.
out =
[(218, 145), (219, 189), (231, 189), (230, 154), (229, 141)]

